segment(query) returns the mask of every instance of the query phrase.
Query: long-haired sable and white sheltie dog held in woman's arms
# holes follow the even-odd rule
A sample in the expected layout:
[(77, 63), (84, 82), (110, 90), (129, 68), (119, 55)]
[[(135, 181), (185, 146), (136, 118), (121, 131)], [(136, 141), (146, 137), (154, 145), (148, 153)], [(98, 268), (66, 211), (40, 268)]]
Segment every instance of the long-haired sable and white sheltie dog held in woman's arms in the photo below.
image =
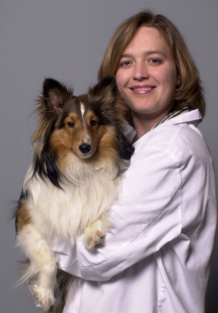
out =
[(72, 246), (82, 232), (87, 249), (101, 242), (134, 151), (124, 135), (130, 112), (108, 76), (78, 97), (45, 79), (36, 113), (33, 162), (14, 214), (16, 243), (27, 257), (19, 283), (29, 281), (45, 311), (60, 312), (76, 284), (57, 270), (52, 244)]

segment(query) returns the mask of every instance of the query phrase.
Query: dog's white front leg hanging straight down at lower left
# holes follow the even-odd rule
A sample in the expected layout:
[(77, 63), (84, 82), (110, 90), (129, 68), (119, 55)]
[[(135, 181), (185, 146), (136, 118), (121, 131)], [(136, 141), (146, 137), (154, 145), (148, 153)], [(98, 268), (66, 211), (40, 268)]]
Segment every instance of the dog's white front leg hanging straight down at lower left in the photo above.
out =
[(34, 280), (32, 284), (36, 299), (44, 310), (55, 303), (56, 261), (50, 244), (33, 224), (25, 224), (18, 232), (17, 243), (30, 260), (23, 279)]

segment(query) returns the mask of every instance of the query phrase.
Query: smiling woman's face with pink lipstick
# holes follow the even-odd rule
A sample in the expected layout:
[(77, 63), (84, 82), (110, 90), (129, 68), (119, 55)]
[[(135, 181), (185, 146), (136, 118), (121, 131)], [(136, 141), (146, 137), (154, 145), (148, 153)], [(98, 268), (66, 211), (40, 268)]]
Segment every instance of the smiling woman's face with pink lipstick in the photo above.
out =
[(173, 106), (179, 82), (171, 50), (159, 31), (138, 28), (116, 71), (118, 90), (126, 104), (136, 113), (157, 116)]

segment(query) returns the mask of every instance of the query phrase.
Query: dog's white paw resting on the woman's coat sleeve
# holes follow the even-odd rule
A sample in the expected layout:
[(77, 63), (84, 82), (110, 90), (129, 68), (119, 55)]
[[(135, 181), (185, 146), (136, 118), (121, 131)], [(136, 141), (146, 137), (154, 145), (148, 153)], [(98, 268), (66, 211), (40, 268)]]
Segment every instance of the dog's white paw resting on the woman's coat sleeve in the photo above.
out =
[(101, 237), (104, 236), (102, 229), (102, 221), (97, 219), (95, 222), (85, 228), (83, 243), (87, 249), (93, 249), (96, 244), (102, 242)]

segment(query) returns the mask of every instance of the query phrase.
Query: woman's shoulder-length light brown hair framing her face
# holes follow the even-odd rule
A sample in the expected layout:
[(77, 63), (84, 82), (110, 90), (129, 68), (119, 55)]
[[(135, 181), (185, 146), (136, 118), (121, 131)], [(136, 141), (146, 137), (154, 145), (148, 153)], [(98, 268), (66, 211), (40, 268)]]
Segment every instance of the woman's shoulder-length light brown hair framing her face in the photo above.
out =
[[(190, 109), (199, 109), (202, 117), (204, 117), (205, 97), (199, 71), (182, 35), (168, 18), (160, 14), (155, 15), (150, 10), (142, 11), (127, 18), (117, 28), (98, 70), (98, 80), (104, 76), (116, 74), (120, 55), (142, 25), (157, 28), (172, 51), (177, 74), (180, 75), (181, 79), (174, 93), (175, 104), (172, 110), (179, 110), (188, 106)], [(129, 122), (132, 124), (131, 121)]]

